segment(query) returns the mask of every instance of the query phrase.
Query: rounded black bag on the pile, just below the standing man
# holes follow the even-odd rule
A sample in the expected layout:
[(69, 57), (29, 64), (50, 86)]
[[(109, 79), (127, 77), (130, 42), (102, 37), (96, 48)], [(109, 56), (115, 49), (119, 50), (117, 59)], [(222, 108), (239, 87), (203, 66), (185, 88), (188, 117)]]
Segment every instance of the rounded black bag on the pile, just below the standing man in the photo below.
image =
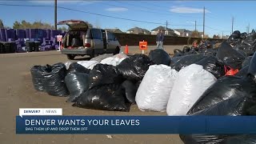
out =
[(167, 54), (165, 50), (150, 50), (149, 58), (156, 65), (163, 64), (166, 66), (170, 66), (170, 55)]

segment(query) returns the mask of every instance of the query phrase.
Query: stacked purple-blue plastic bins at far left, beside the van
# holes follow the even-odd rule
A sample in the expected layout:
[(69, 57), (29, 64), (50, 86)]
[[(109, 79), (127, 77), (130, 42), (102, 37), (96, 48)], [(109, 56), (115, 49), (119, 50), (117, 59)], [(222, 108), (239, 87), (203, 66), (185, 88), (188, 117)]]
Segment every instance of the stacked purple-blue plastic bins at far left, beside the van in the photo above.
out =
[(57, 50), (57, 35), (66, 31), (42, 29), (0, 29), (0, 42), (15, 42), (15, 52), (26, 52), (26, 42), (35, 42), (41, 51)]

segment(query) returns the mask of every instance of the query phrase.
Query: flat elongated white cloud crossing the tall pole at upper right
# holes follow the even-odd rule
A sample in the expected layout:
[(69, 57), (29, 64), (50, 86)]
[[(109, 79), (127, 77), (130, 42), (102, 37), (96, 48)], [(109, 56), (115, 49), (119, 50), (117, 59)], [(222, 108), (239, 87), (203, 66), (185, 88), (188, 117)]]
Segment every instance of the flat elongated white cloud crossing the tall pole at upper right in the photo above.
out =
[[(186, 7), (186, 6), (173, 6), (170, 9), (173, 13), (180, 13), (180, 14), (194, 14), (194, 13), (203, 13), (203, 9), (193, 8), (193, 7)], [(209, 10), (206, 10), (206, 13), (210, 13)]]

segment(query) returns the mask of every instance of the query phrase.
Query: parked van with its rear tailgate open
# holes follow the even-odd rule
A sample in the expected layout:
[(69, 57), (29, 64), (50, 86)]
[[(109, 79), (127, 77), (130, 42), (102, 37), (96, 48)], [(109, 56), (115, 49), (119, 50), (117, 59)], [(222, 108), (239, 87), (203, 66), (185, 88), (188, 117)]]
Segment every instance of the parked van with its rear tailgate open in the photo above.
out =
[(69, 29), (62, 41), (62, 54), (68, 59), (75, 56), (98, 54), (118, 54), (121, 45), (114, 34), (102, 29), (89, 28), (87, 22), (80, 20), (66, 20), (58, 22), (58, 25), (67, 25)]

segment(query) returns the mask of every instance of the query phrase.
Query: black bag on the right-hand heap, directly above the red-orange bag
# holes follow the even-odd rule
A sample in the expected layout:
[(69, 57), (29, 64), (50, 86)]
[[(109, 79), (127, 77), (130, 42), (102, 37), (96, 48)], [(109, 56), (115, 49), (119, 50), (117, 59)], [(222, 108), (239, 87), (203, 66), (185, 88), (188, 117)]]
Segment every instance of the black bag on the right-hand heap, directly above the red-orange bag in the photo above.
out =
[(222, 42), (222, 45), (218, 48), (216, 57), (222, 61), (224, 58), (245, 58), (237, 50), (234, 50), (227, 42)]

